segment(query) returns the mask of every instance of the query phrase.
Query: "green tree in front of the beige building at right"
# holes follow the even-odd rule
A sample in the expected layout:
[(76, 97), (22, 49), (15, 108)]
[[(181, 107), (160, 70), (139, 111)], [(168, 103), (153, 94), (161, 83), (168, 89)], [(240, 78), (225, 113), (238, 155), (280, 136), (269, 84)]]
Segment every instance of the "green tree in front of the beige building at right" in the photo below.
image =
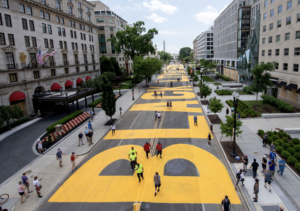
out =
[(267, 86), (272, 86), (270, 72), (274, 70), (273, 63), (256, 64), (251, 73), (253, 74), (253, 81), (251, 90), (256, 94), (256, 102), (258, 100), (258, 93), (267, 89)]

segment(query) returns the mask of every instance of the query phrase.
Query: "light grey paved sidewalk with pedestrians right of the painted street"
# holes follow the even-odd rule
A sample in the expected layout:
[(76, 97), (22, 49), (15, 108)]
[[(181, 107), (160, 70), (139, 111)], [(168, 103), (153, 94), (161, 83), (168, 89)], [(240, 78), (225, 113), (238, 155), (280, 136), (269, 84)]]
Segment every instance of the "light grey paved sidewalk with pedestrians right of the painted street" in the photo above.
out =
[[(226, 100), (233, 99), (232, 96), (218, 96), (214, 90), (216, 86), (213, 84), (208, 84), (212, 90), (212, 94), (208, 98), (213, 98), (216, 96), (217, 99), (221, 99), (224, 104), (222, 112), (218, 115), (220, 119), (226, 121)], [(196, 92), (199, 92), (198, 87), (194, 87)], [(255, 95), (240, 95), (240, 100), (255, 100)], [(204, 100), (204, 99), (203, 99)], [(205, 110), (206, 112), (206, 110)], [(209, 114), (208, 114), (209, 115)], [(257, 137), (255, 133), (259, 129), (268, 131), (274, 130), (275, 128), (289, 128), (295, 127), (297, 123), (300, 123), (299, 118), (246, 118), (241, 119), (243, 125), (241, 130), (243, 133), (239, 135), (236, 140), (245, 155), (249, 158), (248, 168), (251, 166), (253, 159), (256, 158), (257, 162), (260, 164), (261, 170), (261, 160), (265, 154), (269, 154), (269, 149), (262, 147), (261, 140)], [(230, 141), (230, 137), (225, 137), (221, 135), (220, 125), (214, 125), (214, 132), (220, 141)], [(242, 168), (242, 164), (232, 164), (236, 171)], [(278, 168), (278, 167), (277, 167)], [(276, 169), (278, 170), (278, 169)], [(279, 210), (279, 205), (285, 207), (285, 211), (296, 211), (300, 209), (300, 181), (292, 174), (292, 172), (285, 168), (283, 176), (275, 174), (273, 177), (274, 182), (272, 183), (272, 192), (269, 193), (268, 190), (264, 188), (264, 178), (260, 172), (258, 172), (259, 182), (259, 200), (258, 203), (253, 203), (253, 185), (254, 179), (252, 178), (252, 170), (248, 169), (245, 186), (242, 190), (247, 193), (249, 204), (252, 205), (256, 210)]]

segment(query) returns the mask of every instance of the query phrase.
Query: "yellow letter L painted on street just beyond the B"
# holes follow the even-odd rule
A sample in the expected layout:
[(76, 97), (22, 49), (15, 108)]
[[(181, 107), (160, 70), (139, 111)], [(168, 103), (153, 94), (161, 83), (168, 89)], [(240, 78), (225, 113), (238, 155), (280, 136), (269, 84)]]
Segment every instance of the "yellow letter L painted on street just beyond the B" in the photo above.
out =
[(194, 126), (194, 116), (188, 116), (188, 121), (189, 129), (117, 130), (113, 136), (108, 133), (104, 139), (207, 138), (210, 129), (204, 116), (198, 116), (198, 126)]

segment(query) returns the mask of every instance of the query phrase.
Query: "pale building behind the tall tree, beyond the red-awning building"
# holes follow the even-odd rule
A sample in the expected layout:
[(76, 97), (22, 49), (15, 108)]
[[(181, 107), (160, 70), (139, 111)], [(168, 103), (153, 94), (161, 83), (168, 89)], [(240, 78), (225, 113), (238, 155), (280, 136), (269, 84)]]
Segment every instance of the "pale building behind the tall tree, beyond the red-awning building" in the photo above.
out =
[(126, 29), (126, 26), (129, 26), (127, 21), (111, 11), (101, 1), (90, 1), (90, 3), (95, 5), (95, 21), (98, 26), (100, 57), (103, 55), (108, 58), (114, 57), (119, 62), (120, 67), (126, 68), (126, 63), (128, 63), (128, 70), (131, 70), (132, 60), (126, 60), (123, 52), (117, 52), (111, 42), (107, 42), (107, 39), (116, 35), (118, 31)]

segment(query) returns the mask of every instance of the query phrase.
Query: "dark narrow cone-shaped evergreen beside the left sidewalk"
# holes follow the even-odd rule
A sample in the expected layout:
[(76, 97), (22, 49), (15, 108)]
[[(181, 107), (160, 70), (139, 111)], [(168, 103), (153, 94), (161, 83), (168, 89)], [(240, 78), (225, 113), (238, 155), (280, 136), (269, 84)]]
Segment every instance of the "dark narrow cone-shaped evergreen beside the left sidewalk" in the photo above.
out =
[(101, 81), (102, 90), (102, 103), (101, 107), (105, 111), (105, 114), (112, 119), (112, 116), (116, 113), (116, 98), (113, 91), (111, 82), (104, 75)]

